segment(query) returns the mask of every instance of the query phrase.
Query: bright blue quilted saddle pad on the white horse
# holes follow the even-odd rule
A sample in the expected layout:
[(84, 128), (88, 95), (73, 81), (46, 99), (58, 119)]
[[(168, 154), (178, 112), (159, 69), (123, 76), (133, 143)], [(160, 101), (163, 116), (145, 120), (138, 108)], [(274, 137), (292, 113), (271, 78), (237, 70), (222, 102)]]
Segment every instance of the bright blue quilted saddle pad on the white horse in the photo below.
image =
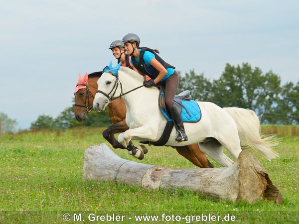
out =
[[(198, 122), (200, 120), (201, 111), (198, 104), (195, 101), (182, 101), (181, 105), (181, 117), (183, 122)], [(172, 121), (171, 117), (162, 108), (160, 108), (160, 111), (163, 113), (163, 115), (168, 121)]]

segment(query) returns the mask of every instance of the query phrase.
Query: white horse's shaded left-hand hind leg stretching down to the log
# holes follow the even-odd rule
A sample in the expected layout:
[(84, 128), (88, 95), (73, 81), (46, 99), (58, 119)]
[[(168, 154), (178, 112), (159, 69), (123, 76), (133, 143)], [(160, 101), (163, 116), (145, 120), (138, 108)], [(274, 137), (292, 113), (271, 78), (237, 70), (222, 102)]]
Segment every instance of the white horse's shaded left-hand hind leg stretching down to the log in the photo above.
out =
[(199, 147), (201, 151), (210, 156), (221, 166), (232, 166), (234, 164), (234, 161), (223, 153), (223, 147), (216, 139), (205, 143), (199, 143)]

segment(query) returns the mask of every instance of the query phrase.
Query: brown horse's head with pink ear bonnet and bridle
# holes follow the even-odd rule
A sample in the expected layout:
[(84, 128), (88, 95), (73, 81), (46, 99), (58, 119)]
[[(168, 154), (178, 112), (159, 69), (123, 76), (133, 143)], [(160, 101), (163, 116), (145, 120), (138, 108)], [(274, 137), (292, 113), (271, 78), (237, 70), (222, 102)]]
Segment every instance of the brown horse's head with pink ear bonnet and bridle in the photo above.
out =
[(85, 74), (82, 78), (79, 74), (78, 82), (75, 89), (75, 118), (82, 122), (87, 119), (88, 112), (92, 109), (92, 103), (96, 92), (97, 80), (102, 75), (102, 72), (94, 72)]

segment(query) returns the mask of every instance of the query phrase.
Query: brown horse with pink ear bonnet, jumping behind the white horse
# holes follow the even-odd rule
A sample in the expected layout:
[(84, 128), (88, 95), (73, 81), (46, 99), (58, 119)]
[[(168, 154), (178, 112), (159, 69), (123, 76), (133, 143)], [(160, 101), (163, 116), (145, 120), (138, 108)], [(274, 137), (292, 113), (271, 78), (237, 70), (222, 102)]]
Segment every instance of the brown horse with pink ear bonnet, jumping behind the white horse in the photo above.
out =
[[(88, 82), (86, 81), (77, 83), (76, 87), (81, 89), (75, 93), (75, 118), (82, 122), (87, 119), (88, 112), (92, 109), (92, 103), (96, 91), (98, 90), (97, 81), (101, 77), (102, 72), (94, 72), (88, 75)], [(86, 77), (87, 78), (87, 77)], [(112, 120), (112, 125), (103, 131), (103, 136), (114, 148), (122, 148), (121, 145), (115, 138), (115, 133), (124, 132), (129, 129), (126, 123), (126, 105), (122, 99), (112, 101), (108, 105), (108, 114)], [(207, 159), (206, 155), (199, 149), (198, 144), (191, 144), (188, 146), (176, 146), (176, 151), (192, 162), (195, 166), (201, 168), (212, 168), (213, 165)]]

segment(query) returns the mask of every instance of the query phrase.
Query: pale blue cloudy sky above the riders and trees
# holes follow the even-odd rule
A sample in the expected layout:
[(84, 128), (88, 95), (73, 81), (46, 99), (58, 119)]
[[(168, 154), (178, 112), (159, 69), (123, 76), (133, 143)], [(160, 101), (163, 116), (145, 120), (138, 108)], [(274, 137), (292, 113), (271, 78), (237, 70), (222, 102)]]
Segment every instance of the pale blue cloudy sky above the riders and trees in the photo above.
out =
[(78, 74), (136, 33), (181, 74), (218, 79), (226, 63), (299, 81), (298, 0), (1, 0), (0, 112), (30, 127), (72, 106)]

